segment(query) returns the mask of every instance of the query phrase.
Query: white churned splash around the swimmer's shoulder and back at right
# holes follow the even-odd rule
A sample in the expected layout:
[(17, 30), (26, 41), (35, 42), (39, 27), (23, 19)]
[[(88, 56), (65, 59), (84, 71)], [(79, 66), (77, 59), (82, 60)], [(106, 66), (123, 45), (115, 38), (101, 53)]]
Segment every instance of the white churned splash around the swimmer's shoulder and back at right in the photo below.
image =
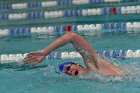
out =
[(131, 83), (140, 82), (140, 62), (122, 63), (116, 61), (112, 62), (112, 64), (124, 70), (125, 74), (121, 76), (103, 76), (99, 73), (90, 71), (88, 74), (83, 73), (82, 75), (80, 75), (79, 78), (93, 79), (95, 81), (101, 82), (131, 82)]

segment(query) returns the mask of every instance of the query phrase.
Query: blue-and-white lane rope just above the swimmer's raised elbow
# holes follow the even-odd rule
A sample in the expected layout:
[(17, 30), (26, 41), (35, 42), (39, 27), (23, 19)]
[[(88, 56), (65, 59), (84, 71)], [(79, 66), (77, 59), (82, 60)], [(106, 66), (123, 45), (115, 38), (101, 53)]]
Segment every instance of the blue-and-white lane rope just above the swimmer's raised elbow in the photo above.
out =
[[(140, 33), (140, 22), (115, 22), (102, 24), (82, 24), (71, 25), (71, 31), (82, 35), (101, 35), (104, 33)], [(65, 26), (42, 26), (42, 27), (24, 27), (0, 29), (0, 37), (3, 36), (61, 36), (65, 32)]]

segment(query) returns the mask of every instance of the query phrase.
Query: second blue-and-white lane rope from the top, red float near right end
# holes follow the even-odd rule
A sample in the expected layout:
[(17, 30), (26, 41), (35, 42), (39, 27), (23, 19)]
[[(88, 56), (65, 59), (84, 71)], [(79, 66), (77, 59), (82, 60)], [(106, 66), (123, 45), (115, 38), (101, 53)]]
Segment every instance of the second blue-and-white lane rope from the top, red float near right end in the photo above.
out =
[(20, 13), (3, 13), (0, 14), (1, 20), (22, 20), (22, 19), (50, 19), (62, 17), (79, 17), (95, 15), (120, 15), (120, 14), (139, 14), (140, 5), (122, 6), (122, 7), (102, 7), (88, 9), (69, 9), (55, 11), (38, 11), (38, 12), (20, 12)]

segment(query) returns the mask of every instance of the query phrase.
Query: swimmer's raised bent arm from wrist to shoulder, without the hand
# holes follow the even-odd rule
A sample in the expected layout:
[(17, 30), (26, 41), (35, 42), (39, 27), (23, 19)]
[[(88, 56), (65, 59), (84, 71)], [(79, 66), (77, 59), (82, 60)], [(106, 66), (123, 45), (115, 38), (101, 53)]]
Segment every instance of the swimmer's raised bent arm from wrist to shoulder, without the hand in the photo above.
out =
[[(67, 32), (65, 35), (61, 36), (53, 43), (51, 43), (47, 48), (43, 49), (45, 55), (51, 53), (53, 50), (66, 45), (67, 43), (72, 43), (74, 48), (82, 56), (85, 65), (88, 69), (98, 68), (98, 60), (100, 57), (94, 50), (94, 48), (80, 35), (74, 32)], [(92, 68), (91, 68), (92, 64)]]

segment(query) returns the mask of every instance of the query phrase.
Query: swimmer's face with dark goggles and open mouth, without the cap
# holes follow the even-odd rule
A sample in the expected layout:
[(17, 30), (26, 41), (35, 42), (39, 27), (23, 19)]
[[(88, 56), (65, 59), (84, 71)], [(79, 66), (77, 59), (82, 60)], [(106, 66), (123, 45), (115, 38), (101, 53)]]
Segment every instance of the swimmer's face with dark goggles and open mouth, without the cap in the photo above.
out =
[(63, 72), (71, 76), (79, 76), (84, 71), (81, 65), (68, 64), (64, 66)]

